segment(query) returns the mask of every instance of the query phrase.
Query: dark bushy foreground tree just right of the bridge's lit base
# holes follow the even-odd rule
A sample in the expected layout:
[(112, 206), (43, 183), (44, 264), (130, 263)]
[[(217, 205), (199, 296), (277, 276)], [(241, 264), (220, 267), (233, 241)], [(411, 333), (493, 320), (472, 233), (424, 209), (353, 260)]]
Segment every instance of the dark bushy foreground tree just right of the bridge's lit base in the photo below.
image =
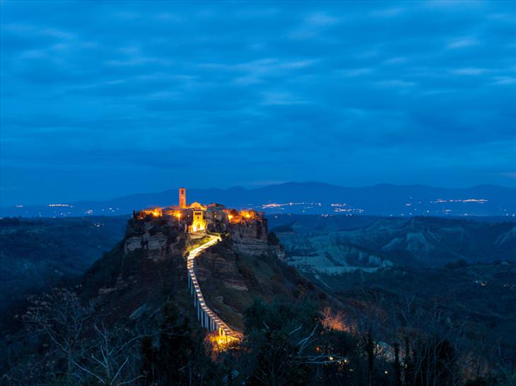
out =
[(244, 350), (250, 353), (250, 385), (306, 385), (317, 366), (344, 361), (322, 344), (319, 314), (286, 301), (267, 305), (257, 299), (245, 311)]

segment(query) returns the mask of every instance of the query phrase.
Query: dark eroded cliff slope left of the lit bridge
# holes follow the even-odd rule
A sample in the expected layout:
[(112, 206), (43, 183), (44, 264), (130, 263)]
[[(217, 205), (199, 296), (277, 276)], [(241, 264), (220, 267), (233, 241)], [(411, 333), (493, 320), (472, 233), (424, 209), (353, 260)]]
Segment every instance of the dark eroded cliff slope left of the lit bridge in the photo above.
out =
[(161, 219), (129, 219), (124, 239), (86, 272), (81, 297), (113, 322), (155, 315), (187, 291), (186, 239)]

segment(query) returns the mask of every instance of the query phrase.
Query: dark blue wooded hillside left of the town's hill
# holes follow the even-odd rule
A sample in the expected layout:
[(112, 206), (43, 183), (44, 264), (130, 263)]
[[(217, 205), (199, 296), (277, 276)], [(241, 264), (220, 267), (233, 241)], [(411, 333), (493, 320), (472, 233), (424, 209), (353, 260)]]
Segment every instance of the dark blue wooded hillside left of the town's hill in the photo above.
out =
[(0, 315), (25, 296), (73, 281), (122, 238), (126, 217), (0, 219)]

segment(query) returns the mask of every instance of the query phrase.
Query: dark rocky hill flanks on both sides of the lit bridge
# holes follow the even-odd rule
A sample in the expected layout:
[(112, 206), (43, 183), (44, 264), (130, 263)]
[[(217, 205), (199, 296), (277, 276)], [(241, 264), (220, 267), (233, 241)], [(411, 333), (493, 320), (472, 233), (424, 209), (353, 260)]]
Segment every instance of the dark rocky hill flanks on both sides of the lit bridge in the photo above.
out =
[[(86, 275), (83, 296), (113, 321), (153, 318), (167, 298), (192, 310), (186, 255), (203, 243), (165, 219), (131, 219), (117, 249)], [(254, 298), (302, 300), (323, 296), (281, 259), (285, 253), (262, 219), (228, 225), (223, 241), (196, 259), (197, 278), (209, 306), (231, 327), (243, 328), (242, 313)]]

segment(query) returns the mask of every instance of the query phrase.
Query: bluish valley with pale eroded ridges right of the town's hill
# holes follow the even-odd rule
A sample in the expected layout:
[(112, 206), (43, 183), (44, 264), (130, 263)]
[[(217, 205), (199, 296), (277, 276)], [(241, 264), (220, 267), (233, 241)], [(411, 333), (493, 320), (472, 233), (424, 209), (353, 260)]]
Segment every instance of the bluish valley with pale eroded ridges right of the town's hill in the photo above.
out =
[(273, 215), (270, 224), (303, 272), (516, 262), (516, 222), (505, 219)]

